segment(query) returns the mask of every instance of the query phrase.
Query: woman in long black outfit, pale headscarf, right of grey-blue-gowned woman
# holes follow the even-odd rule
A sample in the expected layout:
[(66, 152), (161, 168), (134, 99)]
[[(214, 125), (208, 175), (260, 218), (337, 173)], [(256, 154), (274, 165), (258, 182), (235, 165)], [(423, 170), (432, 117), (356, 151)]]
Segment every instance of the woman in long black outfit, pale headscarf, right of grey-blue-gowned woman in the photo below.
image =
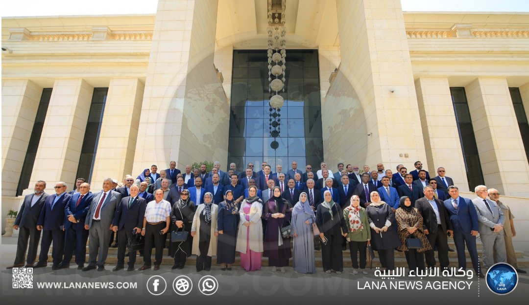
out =
[(342, 236), (347, 235), (347, 225), (340, 205), (333, 201), (329, 190), (323, 193), (323, 202), (316, 210), (316, 224), (320, 229), (323, 271), (331, 273), (331, 270), (334, 270), (336, 274), (341, 274), (343, 271)]

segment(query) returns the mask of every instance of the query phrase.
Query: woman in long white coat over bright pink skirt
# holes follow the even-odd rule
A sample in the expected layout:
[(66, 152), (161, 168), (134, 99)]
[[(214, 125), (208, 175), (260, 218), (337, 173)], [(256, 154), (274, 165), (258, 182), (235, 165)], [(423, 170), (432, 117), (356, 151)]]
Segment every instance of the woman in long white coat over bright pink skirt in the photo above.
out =
[(248, 198), (239, 209), (241, 221), (237, 234), (236, 251), (241, 253), (241, 267), (246, 271), (261, 270), (263, 231), (261, 223), (263, 202), (257, 197), (257, 187), (248, 188)]

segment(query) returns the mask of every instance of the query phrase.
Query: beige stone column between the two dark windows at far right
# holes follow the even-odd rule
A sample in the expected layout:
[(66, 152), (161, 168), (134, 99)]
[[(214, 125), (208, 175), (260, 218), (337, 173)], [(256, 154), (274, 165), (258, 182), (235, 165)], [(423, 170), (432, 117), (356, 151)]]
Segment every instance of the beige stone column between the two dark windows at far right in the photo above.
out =
[(507, 80), (478, 78), (465, 91), (485, 184), (506, 196), (528, 197), (529, 165)]

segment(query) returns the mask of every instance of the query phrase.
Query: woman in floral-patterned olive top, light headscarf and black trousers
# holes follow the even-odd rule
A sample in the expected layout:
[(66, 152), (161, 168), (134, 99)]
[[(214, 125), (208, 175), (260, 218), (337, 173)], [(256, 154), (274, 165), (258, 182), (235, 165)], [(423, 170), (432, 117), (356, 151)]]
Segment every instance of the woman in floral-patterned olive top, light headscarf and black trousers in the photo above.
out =
[[(366, 209), (360, 206), (360, 198), (357, 195), (351, 197), (351, 205), (343, 209), (343, 218), (348, 226), (346, 239), (351, 250), (351, 262), (353, 263), (353, 274), (366, 271), (366, 247), (371, 240), (371, 229), (367, 218)], [(360, 268), (358, 268), (357, 253), (360, 251)], [(358, 269), (358, 270), (357, 270)]]

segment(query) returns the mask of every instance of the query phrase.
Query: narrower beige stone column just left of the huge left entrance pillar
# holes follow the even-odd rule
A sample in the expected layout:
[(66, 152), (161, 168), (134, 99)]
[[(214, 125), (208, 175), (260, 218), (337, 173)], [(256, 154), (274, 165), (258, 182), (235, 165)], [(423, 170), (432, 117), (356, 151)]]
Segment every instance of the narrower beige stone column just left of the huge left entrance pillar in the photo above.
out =
[[(143, 83), (136, 78), (110, 80), (92, 174), (92, 183), (97, 187), (107, 177), (121, 182), (126, 174), (132, 174), (134, 177), (139, 175), (132, 172), (132, 164), (138, 138), (143, 89)], [(150, 168), (150, 165), (148, 167)]]

